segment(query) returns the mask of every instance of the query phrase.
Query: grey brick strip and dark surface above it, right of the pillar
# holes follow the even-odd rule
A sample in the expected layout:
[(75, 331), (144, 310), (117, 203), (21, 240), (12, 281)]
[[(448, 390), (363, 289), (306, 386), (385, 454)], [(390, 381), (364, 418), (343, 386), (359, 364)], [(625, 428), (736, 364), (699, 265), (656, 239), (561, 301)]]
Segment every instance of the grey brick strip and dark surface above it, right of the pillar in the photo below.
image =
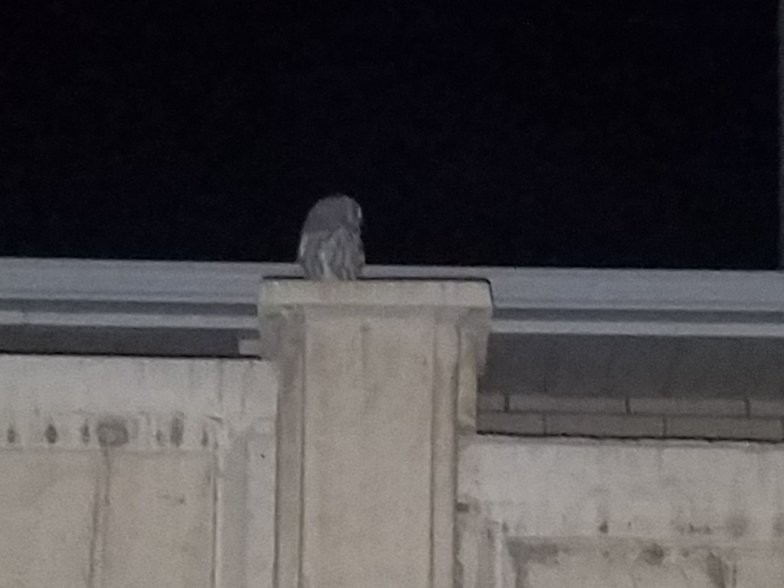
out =
[(496, 341), (479, 398), (479, 430), (784, 441), (782, 383), (779, 341), (545, 336)]

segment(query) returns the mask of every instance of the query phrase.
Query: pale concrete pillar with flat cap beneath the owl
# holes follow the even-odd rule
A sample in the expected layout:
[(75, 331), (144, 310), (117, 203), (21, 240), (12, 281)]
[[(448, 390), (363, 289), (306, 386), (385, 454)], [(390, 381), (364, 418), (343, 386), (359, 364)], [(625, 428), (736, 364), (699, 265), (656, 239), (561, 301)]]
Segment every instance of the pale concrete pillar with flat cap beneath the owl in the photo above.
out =
[(272, 281), (260, 311), (280, 382), (276, 588), (453, 588), (488, 285)]

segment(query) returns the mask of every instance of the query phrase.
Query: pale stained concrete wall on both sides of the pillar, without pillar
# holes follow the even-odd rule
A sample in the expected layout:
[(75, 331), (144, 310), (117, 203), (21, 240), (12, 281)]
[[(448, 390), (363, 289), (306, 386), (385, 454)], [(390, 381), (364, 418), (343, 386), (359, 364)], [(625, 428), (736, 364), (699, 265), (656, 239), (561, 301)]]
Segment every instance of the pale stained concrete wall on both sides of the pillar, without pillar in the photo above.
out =
[[(0, 356), (0, 586), (271, 587), (255, 360)], [(784, 448), (466, 435), (458, 585), (784, 585)]]

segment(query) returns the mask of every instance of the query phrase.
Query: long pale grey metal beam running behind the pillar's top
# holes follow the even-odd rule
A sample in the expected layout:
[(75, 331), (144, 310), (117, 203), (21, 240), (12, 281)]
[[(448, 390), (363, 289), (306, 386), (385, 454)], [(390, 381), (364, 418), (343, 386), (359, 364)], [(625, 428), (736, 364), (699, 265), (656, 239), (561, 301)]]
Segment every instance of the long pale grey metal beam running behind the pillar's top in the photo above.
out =
[[(260, 281), (299, 275), (292, 264), (0, 259), (0, 325), (248, 331)], [(486, 279), (496, 333), (784, 336), (778, 272), (370, 266), (367, 276)]]

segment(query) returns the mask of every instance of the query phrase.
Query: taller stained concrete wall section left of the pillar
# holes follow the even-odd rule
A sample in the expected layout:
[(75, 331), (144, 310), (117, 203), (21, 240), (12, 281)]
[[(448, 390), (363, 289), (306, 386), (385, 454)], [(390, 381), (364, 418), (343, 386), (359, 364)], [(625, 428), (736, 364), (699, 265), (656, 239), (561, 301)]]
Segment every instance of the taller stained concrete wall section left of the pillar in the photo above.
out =
[(252, 360), (0, 356), (0, 586), (271, 586)]

